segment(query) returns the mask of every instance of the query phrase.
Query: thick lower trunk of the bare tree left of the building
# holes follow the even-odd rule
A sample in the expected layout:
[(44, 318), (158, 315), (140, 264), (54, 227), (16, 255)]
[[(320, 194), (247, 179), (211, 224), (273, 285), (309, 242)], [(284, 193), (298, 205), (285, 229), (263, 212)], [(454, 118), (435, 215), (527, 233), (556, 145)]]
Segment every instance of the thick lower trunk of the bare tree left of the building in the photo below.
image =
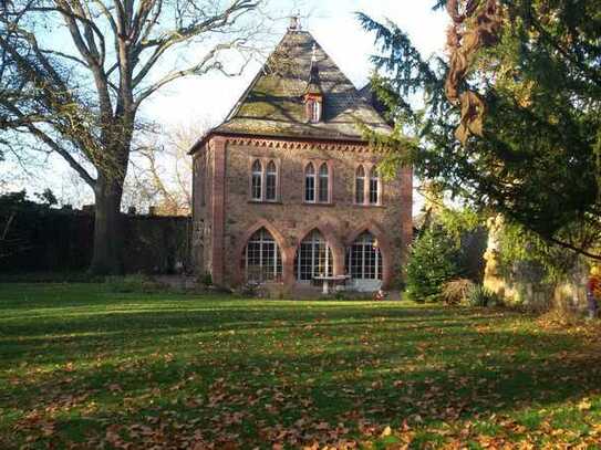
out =
[(99, 175), (94, 189), (96, 207), (94, 219), (94, 254), (90, 272), (97, 275), (122, 274), (123, 227), (121, 198), (123, 181), (121, 177)]

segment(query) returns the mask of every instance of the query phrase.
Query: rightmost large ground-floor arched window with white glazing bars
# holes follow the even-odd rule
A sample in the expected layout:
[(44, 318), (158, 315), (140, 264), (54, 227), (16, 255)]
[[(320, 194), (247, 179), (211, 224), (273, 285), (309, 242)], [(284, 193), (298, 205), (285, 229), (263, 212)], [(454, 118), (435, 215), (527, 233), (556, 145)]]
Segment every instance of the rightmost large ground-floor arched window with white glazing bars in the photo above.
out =
[(365, 231), (346, 249), (346, 270), (353, 280), (382, 280), (382, 253)]

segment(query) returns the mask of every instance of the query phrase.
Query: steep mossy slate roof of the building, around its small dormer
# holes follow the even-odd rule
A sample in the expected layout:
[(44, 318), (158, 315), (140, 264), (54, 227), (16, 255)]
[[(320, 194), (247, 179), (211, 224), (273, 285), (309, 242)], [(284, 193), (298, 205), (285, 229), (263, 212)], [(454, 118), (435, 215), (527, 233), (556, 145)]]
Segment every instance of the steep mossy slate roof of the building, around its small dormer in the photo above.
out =
[[(309, 123), (303, 94), (317, 60), (323, 116)], [(214, 133), (361, 140), (362, 123), (390, 127), (307, 31), (289, 30), (227, 119)]]

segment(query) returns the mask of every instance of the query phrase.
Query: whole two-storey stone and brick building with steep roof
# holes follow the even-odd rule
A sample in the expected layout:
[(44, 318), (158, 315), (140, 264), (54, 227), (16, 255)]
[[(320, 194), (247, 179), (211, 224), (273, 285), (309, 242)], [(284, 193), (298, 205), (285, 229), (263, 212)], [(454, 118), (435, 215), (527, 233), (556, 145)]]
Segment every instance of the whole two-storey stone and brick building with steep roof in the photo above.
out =
[[(367, 90), (369, 91), (369, 90)], [(383, 180), (362, 126), (390, 127), (291, 25), (226, 121), (193, 147), (194, 252), (217, 285), (391, 286), (412, 239), (412, 170)]]

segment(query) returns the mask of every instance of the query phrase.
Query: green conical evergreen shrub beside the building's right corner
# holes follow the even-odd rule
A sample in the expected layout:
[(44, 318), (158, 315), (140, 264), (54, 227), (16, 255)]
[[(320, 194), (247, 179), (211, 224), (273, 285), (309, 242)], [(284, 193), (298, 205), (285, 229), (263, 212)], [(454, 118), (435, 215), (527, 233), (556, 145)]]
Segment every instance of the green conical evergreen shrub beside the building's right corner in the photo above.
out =
[(442, 301), (443, 285), (462, 275), (457, 242), (433, 227), (417, 239), (406, 266), (407, 295), (415, 302)]

